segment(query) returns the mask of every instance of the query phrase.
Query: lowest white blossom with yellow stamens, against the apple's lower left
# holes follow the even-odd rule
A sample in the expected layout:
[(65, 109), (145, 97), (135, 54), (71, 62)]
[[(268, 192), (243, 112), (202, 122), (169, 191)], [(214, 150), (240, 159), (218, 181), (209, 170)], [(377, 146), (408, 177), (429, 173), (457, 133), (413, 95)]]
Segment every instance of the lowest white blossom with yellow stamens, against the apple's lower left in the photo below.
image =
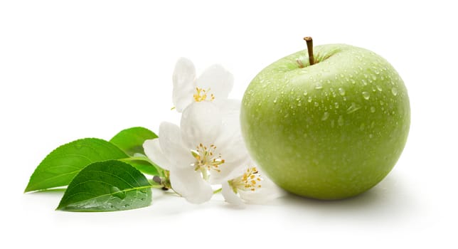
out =
[(225, 200), (239, 206), (244, 206), (245, 203), (265, 203), (284, 194), (256, 166), (245, 166), (237, 177), (222, 185), (221, 193)]

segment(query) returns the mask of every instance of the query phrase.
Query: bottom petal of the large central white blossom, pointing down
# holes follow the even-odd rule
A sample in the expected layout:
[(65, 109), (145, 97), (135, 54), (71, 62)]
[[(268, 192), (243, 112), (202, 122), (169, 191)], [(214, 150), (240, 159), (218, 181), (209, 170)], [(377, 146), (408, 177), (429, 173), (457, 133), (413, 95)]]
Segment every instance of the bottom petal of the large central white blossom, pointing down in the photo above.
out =
[(170, 171), (171, 187), (187, 201), (195, 204), (210, 200), (213, 189), (202, 179), (201, 172), (192, 168)]

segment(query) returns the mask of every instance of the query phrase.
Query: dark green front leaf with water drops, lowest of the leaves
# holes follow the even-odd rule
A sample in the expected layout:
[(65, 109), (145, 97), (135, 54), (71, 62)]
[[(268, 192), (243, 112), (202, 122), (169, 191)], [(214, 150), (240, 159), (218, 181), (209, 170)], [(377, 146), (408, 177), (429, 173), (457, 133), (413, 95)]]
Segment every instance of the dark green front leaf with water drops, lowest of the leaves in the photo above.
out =
[(86, 166), (68, 185), (60, 200), (62, 211), (121, 211), (151, 204), (151, 184), (122, 161), (99, 161)]

